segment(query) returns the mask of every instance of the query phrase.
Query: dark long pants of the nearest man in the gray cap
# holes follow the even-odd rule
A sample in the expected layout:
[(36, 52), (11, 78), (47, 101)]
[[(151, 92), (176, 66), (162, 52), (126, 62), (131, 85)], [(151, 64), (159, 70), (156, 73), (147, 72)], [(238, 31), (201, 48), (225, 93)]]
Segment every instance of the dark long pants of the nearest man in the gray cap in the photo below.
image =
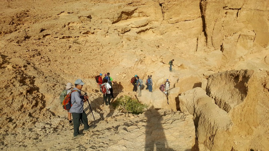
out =
[(84, 130), (89, 129), (90, 126), (88, 125), (87, 114), (84, 112), (84, 110), (82, 113), (72, 113), (72, 117), (73, 117), (73, 125), (74, 125), (74, 136), (79, 135), (80, 119), (82, 123), (84, 124)]

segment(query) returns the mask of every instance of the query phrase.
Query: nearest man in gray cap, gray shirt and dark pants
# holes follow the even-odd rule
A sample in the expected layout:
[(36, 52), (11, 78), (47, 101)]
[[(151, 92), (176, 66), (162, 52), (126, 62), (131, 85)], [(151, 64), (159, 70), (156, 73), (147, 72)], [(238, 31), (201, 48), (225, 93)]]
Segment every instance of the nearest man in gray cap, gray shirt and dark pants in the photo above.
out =
[(74, 138), (78, 138), (80, 136), (83, 136), (84, 134), (79, 133), (80, 128), (80, 119), (82, 120), (82, 123), (84, 125), (84, 131), (87, 132), (88, 130), (93, 129), (93, 126), (88, 125), (88, 118), (87, 114), (83, 110), (84, 102), (88, 100), (88, 96), (81, 95), (81, 89), (85, 83), (82, 82), (80, 79), (77, 79), (75, 81), (75, 88), (73, 89), (73, 93), (71, 94), (71, 108), (69, 110), (70, 113), (72, 113), (73, 117), (73, 125), (74, 125)]

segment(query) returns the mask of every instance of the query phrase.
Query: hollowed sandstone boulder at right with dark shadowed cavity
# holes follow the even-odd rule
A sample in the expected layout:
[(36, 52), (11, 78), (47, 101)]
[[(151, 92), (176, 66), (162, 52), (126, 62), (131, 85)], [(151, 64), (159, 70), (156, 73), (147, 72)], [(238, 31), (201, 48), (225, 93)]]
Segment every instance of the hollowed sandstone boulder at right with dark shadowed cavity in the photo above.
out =
[(208, 78), (206, 91), (215, 104), (228, 113), (237, 127), (235, 130), (252, 133), (258, 125), (257, 79), (253, 70), (213, 74)]

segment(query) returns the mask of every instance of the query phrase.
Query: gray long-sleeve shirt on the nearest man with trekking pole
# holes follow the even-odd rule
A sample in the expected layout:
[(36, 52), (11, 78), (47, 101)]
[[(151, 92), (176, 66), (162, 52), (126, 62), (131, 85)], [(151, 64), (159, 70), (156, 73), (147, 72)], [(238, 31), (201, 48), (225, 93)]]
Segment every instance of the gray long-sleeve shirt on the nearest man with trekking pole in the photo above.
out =
[[(74, 91), (77, 90), (77, 91)], [(70, 113), (83, 113), (83, 99), (84, 96), (81, 95), (81, 92), (76, 87), (73, 89), (74, 92), (71, 94), (71, 104)]]

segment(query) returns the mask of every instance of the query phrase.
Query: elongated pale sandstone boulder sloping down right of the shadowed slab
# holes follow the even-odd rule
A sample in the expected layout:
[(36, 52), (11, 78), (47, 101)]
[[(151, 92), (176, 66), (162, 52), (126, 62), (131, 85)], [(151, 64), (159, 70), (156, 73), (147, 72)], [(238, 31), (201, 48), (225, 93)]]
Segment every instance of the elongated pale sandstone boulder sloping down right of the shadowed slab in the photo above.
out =
[(199, 144), (204, 144), (209, 150), (232, 149), (233, 122), (227, 112), (220, 109), (200, 87), (178, 97), (180, 110), (194, 116)]

